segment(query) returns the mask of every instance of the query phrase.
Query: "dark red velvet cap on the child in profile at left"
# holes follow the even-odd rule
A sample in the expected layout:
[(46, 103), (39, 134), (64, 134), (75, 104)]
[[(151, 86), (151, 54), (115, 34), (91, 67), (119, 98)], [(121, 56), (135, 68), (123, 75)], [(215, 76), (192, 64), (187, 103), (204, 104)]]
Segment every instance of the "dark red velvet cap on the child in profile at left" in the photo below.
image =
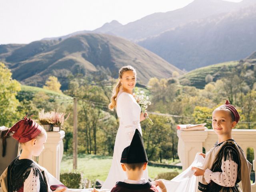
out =
[(32, 120), (31, 117), (28, 119), (27, 116), (28, 115), (26, 115), (24, 119), (16, 122), (16, 124), (14, 124), (7, 132), (7, 134), (9, 132), (14, 132), (12, 137), (20, 143), (25, 143), (34, 139), (42, 131), (42, 126)]

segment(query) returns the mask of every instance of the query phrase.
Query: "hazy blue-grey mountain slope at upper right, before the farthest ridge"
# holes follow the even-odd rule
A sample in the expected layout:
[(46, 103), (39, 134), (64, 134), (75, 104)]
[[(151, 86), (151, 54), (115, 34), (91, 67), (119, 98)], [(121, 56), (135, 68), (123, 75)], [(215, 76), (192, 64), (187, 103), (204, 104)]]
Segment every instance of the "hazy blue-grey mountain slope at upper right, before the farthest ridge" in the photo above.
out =
[(180, 69), (240, 60), (256, 50), (256, 4), (138, 42)]

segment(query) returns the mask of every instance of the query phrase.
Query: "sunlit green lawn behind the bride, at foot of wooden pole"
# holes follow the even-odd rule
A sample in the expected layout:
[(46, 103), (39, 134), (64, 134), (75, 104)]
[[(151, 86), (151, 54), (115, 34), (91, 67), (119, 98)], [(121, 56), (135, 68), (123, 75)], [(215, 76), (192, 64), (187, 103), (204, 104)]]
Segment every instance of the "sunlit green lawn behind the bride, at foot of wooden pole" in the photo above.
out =
[[(81, 172), (84, 178), (89, 180), (102, 180), (104, 181), (108, 176), (108, 171), (110, 169), (112, 162), (112, 157), (110, 156), (98, 156), (98, 155), (88, 155), (79, 154), (78, 155), (78, 172)], [(64, 155), (62, 162), (60, 164), (61, 173), (66, 171), (72, 171), (73, 160), (71, 155)], [(164, 172), (172, 172), (177, 170), (179, 173), (182, 172), (181, 169), (170, 169), (162, 167), (152, 167), (148, 166), (148, 175), (150, 178), (154, 179), (157, 174)]]

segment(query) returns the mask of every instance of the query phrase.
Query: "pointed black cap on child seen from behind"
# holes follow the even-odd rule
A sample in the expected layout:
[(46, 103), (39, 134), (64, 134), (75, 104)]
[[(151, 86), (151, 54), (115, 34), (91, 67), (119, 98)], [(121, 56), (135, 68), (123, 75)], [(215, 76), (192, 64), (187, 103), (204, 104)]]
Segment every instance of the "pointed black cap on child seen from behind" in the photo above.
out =
[(128, 164), (148, 162), (143, 138), (138, 129), (135, 130), (130, 146), (124, 148), (120, 162)]

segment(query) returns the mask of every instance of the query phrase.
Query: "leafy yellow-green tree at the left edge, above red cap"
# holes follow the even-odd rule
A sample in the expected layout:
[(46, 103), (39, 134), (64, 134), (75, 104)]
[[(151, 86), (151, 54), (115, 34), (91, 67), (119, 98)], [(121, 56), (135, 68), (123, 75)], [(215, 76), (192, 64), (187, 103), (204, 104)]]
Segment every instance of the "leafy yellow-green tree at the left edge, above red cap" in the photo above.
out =
[(20, 83), (12, 79), (12, 73), (0, 62), (0, 125), (12, 126), (20, 119), (17, 107), (20, 102), (16, 99), (21, 90)]

